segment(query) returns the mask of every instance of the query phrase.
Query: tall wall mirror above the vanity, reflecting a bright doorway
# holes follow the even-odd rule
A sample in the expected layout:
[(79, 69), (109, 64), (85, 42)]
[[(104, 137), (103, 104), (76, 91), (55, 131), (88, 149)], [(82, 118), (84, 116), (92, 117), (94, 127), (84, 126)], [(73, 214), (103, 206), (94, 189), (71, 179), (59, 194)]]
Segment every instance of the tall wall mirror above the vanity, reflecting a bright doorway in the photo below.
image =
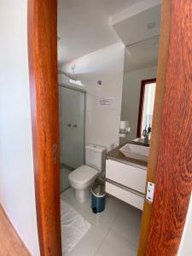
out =
[[(121, 105), (120, 144), (138, 137), (152, 126), (160, 36), (125, 47), (124, 82)], [(138, 139), (137, 139), (138, 141)]]

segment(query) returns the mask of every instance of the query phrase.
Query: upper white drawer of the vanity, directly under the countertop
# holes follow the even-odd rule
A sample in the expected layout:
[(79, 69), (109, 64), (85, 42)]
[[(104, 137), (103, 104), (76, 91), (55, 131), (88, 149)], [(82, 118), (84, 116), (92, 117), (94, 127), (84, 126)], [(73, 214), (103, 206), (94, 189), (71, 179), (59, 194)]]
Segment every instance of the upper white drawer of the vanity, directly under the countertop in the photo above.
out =
[(125, 187), (145, 193), (147, 168), (142, 169), (118, 161), (106, 160), (106, 177)]

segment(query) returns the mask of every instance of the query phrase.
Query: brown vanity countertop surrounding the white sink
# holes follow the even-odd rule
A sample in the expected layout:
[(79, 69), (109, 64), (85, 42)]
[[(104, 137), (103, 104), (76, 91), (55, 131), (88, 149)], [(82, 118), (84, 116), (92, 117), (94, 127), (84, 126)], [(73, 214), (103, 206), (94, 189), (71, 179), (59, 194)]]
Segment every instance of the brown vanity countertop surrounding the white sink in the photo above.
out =
[[(143, 146), (143, 143), (137, 143), (137, 142), (133, 142), (133, 141), (130, 141), (130, 142), (128, 141), (126, 143)], [(131, 166), (143, 166), (143, 167), (147, 168), (148, 161), (136, 160), (133, 158), (129, 158), (120, 152), (119, 148), (122, 148), (126, 143), (123, 143), (123, 144), (119, 145), (119, 147), (114, 148), (113, 150), (109, 151), (108, 154), (106, 155), (106, 158), (109, 160), (116, 160), (116, 161), (122, 162), (127, 165), (131, 165)]]

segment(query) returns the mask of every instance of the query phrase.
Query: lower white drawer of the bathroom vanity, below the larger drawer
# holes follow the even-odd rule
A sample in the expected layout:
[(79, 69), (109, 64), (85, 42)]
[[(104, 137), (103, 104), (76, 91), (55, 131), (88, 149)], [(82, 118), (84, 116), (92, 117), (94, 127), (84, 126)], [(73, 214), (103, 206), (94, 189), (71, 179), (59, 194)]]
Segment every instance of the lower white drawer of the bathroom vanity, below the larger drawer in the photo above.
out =
[(125, 189), (121, 189), (118, 186), (115, 186), (111, 183), (106, 182), (106, 192), (110, 195), (113, 195), (116, 198), (119, 198), (121, 201), (125, 201), (133, 207), (137, 207), (138, 209), (143, 211), (143, 202), (144, 198), (131, 193)]

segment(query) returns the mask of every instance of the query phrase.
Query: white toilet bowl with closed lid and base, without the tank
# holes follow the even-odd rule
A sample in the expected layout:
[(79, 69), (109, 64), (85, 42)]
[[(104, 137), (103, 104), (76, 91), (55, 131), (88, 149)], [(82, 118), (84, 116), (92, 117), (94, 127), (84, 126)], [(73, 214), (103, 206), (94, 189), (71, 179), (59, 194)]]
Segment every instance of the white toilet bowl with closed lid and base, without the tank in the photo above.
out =
[(77, 201), (83, 203), (89, 198), (89, 187), (98, 175), (99, 172), (90, 166), (80, 166), (69, 174), (69, 183), (75, 189)]

